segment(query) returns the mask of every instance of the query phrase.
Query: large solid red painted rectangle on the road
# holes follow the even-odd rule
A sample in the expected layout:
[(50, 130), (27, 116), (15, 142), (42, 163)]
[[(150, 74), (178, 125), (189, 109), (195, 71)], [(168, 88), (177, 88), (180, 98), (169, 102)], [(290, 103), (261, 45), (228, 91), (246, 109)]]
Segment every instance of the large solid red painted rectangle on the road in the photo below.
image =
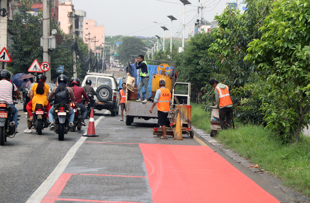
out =
[(280, 202), (208, 146), (139, 146), (153, 203)]

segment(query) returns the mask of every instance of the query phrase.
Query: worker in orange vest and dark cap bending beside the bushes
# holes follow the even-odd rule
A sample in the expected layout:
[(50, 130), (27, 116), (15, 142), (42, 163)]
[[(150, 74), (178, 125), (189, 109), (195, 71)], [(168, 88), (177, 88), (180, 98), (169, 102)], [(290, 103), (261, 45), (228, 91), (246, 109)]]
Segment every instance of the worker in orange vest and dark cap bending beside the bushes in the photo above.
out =
[(232, 126), (232, 100), (230, 99), (229, 89), (227, 85), (219, 83), (218, 80), (212, 78), (209, 84), (214, 87), (216, 108), (219, 108), (219, 121), (221, 128), (225, 129), (225, 116), (228, 128)]

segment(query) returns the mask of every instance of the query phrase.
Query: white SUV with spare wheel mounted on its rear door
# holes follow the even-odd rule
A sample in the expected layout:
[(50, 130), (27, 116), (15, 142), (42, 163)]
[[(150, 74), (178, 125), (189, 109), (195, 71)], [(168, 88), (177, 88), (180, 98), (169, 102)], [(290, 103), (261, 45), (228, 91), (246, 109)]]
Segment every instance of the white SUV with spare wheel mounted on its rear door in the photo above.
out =
[(91, 86), (94, 88), (97, 95), (95, 109), (99, 111), (108, 109), (111, 116), (118, 115), (120, 95), (118, 92), (117, 82), (112, 74), (106, 73), (87, 73), (85, 76), (82, 87), (85, 86), (87, 79), (91, 80)]

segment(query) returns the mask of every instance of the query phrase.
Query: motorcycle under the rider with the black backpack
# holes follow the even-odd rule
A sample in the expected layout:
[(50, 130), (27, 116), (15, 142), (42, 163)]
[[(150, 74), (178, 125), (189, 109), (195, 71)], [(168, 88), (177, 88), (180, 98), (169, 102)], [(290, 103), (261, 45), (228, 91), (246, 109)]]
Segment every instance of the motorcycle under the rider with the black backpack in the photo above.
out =
[(72, 129), (72, 126), (69, 126), (69, 111), (70, 105), (65, 103), (59, 103), (54, 105), (54, 132), (58, 134), (58, 140), (64, 140), (64, 134)]

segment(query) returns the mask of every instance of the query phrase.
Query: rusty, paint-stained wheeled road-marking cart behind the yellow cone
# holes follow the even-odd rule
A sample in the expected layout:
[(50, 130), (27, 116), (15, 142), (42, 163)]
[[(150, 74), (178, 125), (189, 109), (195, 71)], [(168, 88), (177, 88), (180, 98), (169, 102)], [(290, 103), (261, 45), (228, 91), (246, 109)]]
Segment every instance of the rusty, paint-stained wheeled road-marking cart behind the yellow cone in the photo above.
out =
[[(175, 125), (178, 113), (180, 113), (181, 117), (182, 135), (185, 134), (188, 135), (190, 138), (193, 138), (194, 133), (192, 129), (192, 106), (184, 104), (170, 106), (170, 113), (166, 120), (167, 135), (172, 135), (174, 137)], [(157, 137), (162, 136), (161, 126), (153, 128), (153, 135), (156, 135)]]

